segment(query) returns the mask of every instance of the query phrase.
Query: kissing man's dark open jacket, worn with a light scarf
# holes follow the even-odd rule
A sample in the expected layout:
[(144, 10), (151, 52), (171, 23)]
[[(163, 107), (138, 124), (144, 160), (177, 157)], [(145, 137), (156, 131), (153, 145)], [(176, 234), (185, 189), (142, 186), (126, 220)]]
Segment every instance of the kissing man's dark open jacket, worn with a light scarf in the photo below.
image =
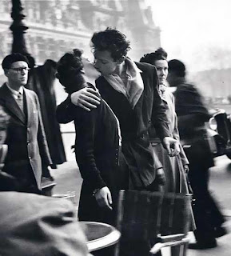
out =
[(144, 91), (134, 109), (125, 95), (114, 90), (103, 76), (96, 80), (96, 86), (120, 122), (122, 152), (131, 170), (131, 183), (135, 188), (143, 188), (153, 182), (155, 170), (161, 167), (149, 143), (149, 126), (153, 124), (161, 139), (171, 135), (165, 105), (157, 90), (156, 68), (147, 63), (135, 63), (141, 70)]

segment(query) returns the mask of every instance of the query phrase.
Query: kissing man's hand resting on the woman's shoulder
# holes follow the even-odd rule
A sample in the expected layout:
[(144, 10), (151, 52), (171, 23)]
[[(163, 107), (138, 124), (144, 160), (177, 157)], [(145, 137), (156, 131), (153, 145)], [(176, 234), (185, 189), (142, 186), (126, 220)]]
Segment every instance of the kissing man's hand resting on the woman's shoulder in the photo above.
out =
[(100, 104), (98, 93), (92, 88), (83, 88), (70, 95), (71, 102), (82, 107), (84, 110), (90, 111), (97, 108)]

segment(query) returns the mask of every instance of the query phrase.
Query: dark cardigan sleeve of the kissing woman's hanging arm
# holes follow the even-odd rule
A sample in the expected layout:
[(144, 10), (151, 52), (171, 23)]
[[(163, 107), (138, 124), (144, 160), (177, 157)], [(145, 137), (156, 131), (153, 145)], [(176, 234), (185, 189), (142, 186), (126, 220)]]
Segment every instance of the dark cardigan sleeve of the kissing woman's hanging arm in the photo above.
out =
[(106, 183), (102, 179), (100, 170), (98, 170), (94, 151), (95, 128), (100, 107), (90, 112), (82, 110), (78, 106), (75, 108), (79, 110), (74, 111), (78, 115), (74, 118), (74, 122), (76, 127), (75, 154), (80, 173), (93, 189), (102, 188), (106, 186)]

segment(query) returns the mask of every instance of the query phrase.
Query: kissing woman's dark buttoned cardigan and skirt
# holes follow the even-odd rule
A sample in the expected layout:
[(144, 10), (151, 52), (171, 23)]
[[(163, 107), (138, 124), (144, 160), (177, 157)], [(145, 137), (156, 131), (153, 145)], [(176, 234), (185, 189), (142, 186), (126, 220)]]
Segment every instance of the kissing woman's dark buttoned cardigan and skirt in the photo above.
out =
[[(62, 105), (66, 106), (66, 102), (58, 106), (58, 121), (62, 119), (59, 112)], [(113, 202), (116, 202), (117, 192), (122, 188), (121, 168), (118, 168), (119, 136), (116, 118), (103, 100), (97, 109), (90, 112), (70, 103), (67, 112), (74, 118), (75, 155), (83, 178), (79, 220), (114, 224), (116, 206), (113, 205), (112, 211), (99, 207), (93, 193), (95, 189), (108, 186)]]

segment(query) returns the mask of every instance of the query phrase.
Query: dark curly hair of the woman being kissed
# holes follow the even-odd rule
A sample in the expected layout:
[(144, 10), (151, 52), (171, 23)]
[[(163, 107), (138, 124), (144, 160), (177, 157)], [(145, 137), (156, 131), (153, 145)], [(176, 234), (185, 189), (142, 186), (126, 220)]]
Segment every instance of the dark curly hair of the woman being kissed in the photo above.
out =
[(68, 94), (86, 86), (82, 69), (82, 50), (74, 49), (67, 52), (58, 61), (56, 77)]

